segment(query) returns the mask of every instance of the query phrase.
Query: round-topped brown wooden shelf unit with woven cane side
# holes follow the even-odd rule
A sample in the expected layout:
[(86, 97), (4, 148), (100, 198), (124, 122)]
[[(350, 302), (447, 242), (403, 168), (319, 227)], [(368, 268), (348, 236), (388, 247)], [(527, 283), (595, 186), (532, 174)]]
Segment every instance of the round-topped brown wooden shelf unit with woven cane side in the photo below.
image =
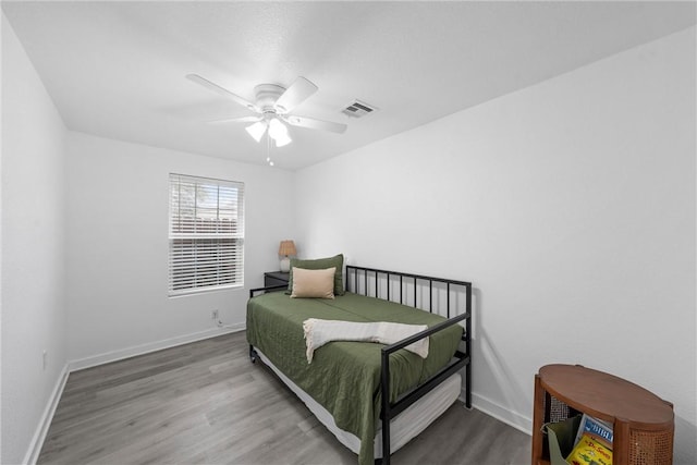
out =
[(543, 366), (533, 408), (533, 465), (549, 465), (542, 425), (578, 413), (613, 425), (614, 465), (673, 463), (673, 404), (622, 378), (580, 365)]

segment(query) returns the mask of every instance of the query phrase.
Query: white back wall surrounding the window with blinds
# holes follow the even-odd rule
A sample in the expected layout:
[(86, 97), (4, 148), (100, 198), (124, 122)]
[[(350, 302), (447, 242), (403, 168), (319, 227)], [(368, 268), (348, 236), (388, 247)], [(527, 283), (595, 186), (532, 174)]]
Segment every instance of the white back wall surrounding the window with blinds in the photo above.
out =
[[(73, 368), (218, 334), (213, 309), (244, 328), (248, 290), (293, 237), (291, 172), (74, 132), (68, 159)], [(245, 183), (244, 289), (168, 297), (169, 173)]]

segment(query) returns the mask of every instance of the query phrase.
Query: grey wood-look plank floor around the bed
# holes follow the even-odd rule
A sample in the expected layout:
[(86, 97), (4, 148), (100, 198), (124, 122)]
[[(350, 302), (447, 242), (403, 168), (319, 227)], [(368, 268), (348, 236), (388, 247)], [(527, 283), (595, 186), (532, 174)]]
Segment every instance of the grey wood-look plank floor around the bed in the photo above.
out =
[[(39, 464), (357, 464), (244, 332), (70, 375)], [(402, 464), (529, 464), (530, 437), (456, 402)]]

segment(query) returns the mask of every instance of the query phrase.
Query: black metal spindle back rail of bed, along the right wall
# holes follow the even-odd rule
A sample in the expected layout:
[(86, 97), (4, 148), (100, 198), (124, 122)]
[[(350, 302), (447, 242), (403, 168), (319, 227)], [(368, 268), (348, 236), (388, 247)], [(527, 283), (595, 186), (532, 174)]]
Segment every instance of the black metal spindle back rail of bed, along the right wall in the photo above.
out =
[(472, 310), (472, 283), (346, 265), (347, 292), (382, 298), (451, 318)]

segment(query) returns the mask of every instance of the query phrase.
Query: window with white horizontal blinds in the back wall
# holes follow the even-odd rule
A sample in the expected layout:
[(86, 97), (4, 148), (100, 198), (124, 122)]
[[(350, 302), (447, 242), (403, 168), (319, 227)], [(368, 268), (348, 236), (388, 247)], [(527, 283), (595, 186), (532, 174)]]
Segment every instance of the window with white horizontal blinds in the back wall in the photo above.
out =
[(170, 174), (169, 294), (244, 285), (244, 184)]

